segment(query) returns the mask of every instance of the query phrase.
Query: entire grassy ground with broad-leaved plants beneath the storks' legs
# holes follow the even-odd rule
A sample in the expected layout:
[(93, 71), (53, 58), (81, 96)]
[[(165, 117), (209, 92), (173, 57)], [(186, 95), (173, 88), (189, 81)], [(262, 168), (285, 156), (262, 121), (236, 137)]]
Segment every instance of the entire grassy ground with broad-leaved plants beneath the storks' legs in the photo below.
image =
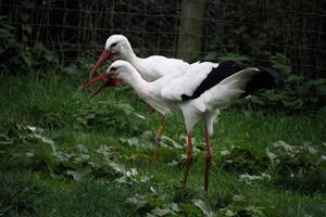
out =
[(205, 196), (200, 126), (181, 189), (181, 116), (153, 166), (160, 116), (126, 87), (89, 102), (74, 77), (1, 78), (0, 216), (326, 215), (325, 111), (222, 112)]

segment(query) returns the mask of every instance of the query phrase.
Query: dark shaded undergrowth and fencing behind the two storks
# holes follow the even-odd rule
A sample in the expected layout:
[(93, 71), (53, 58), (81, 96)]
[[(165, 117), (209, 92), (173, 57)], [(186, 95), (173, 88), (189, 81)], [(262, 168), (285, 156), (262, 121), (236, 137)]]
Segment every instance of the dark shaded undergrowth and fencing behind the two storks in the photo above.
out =
[(3, 0), (0, 73), (80, 75), (123, 34), (139, 56), (274, 68), (279, 86), (249, 100), (259, 107), (326, 107), (325, 9), (317, 0)]

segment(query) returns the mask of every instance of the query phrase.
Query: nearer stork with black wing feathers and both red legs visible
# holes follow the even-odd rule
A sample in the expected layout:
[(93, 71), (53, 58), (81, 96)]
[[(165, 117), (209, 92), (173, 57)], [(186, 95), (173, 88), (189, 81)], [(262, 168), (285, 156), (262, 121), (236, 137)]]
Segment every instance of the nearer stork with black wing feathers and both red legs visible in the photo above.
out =
[(86, 87), (104, 79), (122, 80), (150, 106), (167, 117), (174, 107), (181, 111), (187, 129), (187, 159), (183, 182), (186, 186), (193, 155), (191, 131), (203, 122), (206, 144), (204, 190), (209, 190), (209, 171), (212, 161), (210, 136), (220, 110), (235, 100), (262, 88), (272, 88), (275, 74), (266, 68), (247, 67), (235, 62), (193, 64), (184, 75), (164, 76), (155, 81), (146, 81), (137, 69), (125, 61), (115, 61), (106, 72), (86, 84)]

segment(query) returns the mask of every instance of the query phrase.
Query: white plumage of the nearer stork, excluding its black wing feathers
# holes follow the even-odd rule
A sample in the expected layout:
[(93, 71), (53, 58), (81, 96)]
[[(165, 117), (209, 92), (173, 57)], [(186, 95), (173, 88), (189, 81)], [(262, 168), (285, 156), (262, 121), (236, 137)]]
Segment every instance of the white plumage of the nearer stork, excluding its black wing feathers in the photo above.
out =
[(199, 98), (183, 101), (180, 95), (191, 94), (212, 68), (217, 67), (218, 64), (196, 63), (188, 68), (185, 75), (173, 74), (152, 82), (142, 79), (130, 64), (123, 61), (118, 61), (117, 64), (126, 65), (126, 72), (120, 73), (118, 77), (130, 85), (151, 107), (164, 116), (167, 116), (173, 108), (178, 107), (184, 114), (187, 131), (191, 131), (195, 124), (202, 120), (208, 126), (210, 135), (213, 133), (213, 124), (220, 114), (220, 108), (226, 107), (239, 98), (243, 93), (247, 81), (258, 72), (256, 68), (246, 68), (205, 90)]

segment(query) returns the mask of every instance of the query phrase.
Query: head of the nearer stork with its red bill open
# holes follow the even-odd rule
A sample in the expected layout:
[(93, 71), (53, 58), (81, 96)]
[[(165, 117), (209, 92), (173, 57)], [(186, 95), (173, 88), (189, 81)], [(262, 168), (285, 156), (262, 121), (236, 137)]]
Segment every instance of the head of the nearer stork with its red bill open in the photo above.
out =
[(130, 63), (126, 61), (115, 61), (104, 73), (85, 84), (80, 89), (85, 90), (86, 88), (95, 85), (96, 82), (104, 80), (104, 82), (88, 97), (88, 99), (91, 99), (105, 87), (117, 87), (122, 84), (122, 80), (133, 79), (133, 71), (136, 69), (131, 66)]

